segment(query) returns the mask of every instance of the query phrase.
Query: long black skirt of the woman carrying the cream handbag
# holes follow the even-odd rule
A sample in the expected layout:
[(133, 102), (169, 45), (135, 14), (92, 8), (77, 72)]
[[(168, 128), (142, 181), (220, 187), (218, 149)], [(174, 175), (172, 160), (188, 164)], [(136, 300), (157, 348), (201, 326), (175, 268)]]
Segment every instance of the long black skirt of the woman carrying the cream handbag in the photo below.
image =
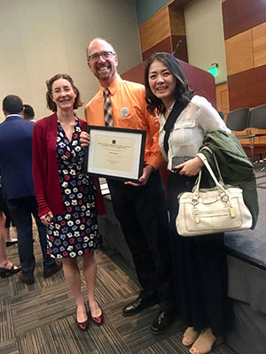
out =
[(195, 180), (179, 173), (168, 179), (176, 305), (187, 326), (211, 327), (217, 337), (224, 334), (228, 302), (223, 234), (183, 237), (176, 232), (177, 196), (191, 191)]

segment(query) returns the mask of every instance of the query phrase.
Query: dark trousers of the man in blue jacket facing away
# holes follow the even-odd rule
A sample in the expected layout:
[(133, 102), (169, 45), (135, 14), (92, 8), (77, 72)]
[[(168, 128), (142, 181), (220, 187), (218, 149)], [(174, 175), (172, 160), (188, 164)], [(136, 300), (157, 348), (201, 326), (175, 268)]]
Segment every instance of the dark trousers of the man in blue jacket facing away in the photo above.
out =
[(18, 230), (18, 246), (22, 273), (30, 276), (35, 270), (35, 255), (33, 248), (32, 215), (35, 218), (40, 245), (43, 252), (43, 268), (47, 269), (55, 263), (55, 259), (47, 254), (46, 227), (37, 214), (35, 196), (25, 196), (7, 200), (7, 206)]

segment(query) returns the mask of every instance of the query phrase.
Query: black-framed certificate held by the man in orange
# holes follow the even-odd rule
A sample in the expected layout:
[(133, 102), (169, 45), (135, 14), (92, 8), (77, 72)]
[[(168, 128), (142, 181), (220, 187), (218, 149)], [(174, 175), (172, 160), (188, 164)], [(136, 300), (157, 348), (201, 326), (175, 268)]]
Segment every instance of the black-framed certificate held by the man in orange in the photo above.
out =
[(85, 173), (99, 177), (138, 181), (143, 173), (145, 130), (88, 126)]

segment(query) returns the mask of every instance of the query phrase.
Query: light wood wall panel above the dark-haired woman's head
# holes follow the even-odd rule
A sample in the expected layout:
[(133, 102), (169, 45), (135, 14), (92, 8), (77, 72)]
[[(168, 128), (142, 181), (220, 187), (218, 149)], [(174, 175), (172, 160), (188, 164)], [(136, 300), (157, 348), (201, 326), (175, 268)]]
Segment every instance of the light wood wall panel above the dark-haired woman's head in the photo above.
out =
[(149, 50), (157, 43), (171, 35), (168, 7), (155, 13), (139, 27), (141, 51)]

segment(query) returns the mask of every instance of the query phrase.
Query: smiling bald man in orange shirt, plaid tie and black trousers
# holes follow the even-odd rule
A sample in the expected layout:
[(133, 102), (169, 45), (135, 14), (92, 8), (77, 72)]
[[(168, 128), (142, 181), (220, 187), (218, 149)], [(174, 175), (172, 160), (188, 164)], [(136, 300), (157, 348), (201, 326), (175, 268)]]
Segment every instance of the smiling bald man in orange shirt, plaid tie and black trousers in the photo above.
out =
[(107, 183), (114, 213), (121, 223), (142, 287), (137, 299), (126, 305), (122, 313), (133, 315), (160, 303), (160, 313), (152, 326), (153, 333), (160, 334), (172, 323), (174, 302), (168, 214), (157, 171), (163, 160), (158, 144), (159, 121), (146, 111), (144, 86), (121, 80), (117, 73), (118, 58), (109, 42), (95, 38), (89, 44), (87, 55), (90, 71), (100, 84), (98, 93), (85, 108), (87, 123), (105, 126), (104, 90), (107, 88), (113, 127), (146, 131), (145, 166), (139, 183), (110, 178)]

